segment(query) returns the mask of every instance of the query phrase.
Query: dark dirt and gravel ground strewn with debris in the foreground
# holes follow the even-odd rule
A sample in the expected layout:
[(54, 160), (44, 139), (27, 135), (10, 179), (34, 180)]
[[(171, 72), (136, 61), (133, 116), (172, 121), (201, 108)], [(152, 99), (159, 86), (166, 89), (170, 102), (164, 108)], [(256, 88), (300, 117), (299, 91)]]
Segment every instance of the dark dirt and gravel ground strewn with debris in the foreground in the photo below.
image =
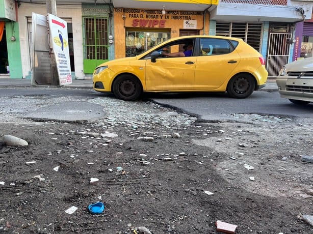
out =
[[(1, 231), (134, 233), (145, 226), (151, 233), (218, 233), (222, 220), (238, 225), (236, 233), (313, 233), (300, 218), (312, 215), (313, 164), (301, 161), (312, 155), (310, 124), (0, 128), (0, 137), (29, 142), (0, 145)], [(92, 215), (87, 207), (98, 200), (106, 209)], [(78, 209), (65, 213), (72, 206)]]

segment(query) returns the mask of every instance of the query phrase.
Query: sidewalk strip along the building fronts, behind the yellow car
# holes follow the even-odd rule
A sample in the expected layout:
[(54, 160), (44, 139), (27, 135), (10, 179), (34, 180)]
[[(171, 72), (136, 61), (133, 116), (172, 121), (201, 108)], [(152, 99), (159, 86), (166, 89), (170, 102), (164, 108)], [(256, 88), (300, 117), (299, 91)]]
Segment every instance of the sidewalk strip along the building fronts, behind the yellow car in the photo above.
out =
[[(0, 87), (18, 87), (18, 86), (32, 86), (31, 79), (18, 79), (18, 78), (0, 78)], [(35, 85), (39, 86), (50, 86), (50, 85)], [(57, 86), (59, 87), (59, 86)], [(92, 79), (73, 79), (71, 84), (64, 85), (64, 87), (73, 89), (92, 89)], [(262, 91), (276, 91), (277, 84), (275, 79), (269, 78), (266, 86)]]

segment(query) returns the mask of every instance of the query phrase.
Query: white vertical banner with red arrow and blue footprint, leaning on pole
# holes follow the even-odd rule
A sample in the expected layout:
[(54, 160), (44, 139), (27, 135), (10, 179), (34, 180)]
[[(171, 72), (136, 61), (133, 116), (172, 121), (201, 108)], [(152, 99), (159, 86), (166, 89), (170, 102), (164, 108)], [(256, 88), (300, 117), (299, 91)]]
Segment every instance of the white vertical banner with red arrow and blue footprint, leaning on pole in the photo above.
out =
[(72, 83), (67, 37), (67, 23), (55, 15), (48, 14), (50, 42), (56, 57), (60, 85)]

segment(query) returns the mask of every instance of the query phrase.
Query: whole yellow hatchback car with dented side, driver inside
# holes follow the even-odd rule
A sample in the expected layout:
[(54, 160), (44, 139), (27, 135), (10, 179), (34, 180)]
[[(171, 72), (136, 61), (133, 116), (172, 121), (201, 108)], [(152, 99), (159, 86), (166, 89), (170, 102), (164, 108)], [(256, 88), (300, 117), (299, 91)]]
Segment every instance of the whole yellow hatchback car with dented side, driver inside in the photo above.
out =
[(242, 39), (185, 36), (99, 65), (93, 89), (129, 101), (143, 92), (227, 91), (247, 98), (266, 85), (267, 76), (263, 56)]

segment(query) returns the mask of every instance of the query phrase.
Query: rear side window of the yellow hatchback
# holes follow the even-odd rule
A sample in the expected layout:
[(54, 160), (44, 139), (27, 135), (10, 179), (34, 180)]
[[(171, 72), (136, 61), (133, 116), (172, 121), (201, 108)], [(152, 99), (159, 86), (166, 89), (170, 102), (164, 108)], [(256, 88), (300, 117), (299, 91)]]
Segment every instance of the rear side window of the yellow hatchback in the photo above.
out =
[(227, 54), (232, 50), (228, 40), (217, 38), (200, 39), (200, 56)]

